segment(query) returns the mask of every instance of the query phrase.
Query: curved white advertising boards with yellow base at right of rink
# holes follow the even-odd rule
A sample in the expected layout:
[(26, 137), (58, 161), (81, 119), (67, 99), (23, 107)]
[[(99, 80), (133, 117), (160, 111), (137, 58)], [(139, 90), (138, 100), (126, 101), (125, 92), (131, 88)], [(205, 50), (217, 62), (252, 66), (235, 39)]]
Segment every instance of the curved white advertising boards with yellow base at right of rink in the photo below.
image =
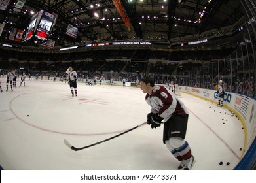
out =
[[(179, 89), (182, 93), (188, 93), (211, 103), (217, 103), (216, 90), (188, 86), (179, 86)], [(256, 162), (255, 146), (253, 148), (256, 141), (256, 100), (240, 93), (225, 92), (223, 101), (223, 107), (236, 116), (244, 131), (244, 148), (236, 169), (251, 169), (253, 167), (252, 163), (246, 164), (245, 162)]]

